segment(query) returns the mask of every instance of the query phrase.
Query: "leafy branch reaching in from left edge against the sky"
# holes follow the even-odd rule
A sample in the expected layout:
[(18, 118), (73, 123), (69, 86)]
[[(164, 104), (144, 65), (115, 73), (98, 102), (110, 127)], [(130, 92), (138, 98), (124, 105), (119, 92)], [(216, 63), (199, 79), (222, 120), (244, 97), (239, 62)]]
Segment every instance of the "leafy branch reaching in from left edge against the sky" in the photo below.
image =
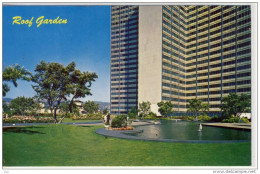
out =
[[(12, 82), (15, 87), (18, 86), (17, 80), (31, 80), (31, 73), (24, 69), (24, 67), (21, 67), (20, 65), (13, 65), (8, 66), (3, 71), (3, 81), (4, 82)], [(10, 91), (10, 87), (7, 83), (3, 83), (3, 96), (6, 95), (6, 93)]]

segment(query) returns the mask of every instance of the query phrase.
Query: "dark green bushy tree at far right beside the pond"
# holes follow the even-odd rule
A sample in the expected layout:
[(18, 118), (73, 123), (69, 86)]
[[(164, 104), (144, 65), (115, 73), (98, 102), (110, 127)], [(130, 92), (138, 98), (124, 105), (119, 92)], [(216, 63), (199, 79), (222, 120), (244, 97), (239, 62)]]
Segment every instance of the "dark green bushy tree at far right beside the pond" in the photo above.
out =
[(251, 100), (247, 94), (239, 96), (235, 93), (230, 93), (228, 96), (223, 97), (221, 102), (222, 116), (226, 118), (237, 113), (251, 112)]

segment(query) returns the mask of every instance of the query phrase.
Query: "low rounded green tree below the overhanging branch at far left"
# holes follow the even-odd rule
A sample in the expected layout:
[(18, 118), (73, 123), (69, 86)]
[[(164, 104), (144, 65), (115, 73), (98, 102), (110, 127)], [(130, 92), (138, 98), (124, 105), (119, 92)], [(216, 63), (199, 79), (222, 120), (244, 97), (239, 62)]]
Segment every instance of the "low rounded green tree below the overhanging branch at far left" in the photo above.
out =
[(9, 107), (14, 113), (25, 115), (26, 112), (35, 113), (40, 109), (40, 104), (34, 101), (33, 98), (17, 97), (11, 101)]

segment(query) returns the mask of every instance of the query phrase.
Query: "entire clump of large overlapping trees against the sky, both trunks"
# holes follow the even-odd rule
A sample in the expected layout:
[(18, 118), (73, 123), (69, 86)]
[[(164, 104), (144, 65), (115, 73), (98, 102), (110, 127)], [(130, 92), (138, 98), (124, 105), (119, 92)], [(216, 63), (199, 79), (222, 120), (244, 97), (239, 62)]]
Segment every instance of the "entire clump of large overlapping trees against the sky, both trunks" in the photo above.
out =
[(41, 61), (35, 68), (36, 73), (32, 81), (36, 85), (33, 85), (33, 89), (40, 99), (47, 101), (55, 123), (58, 123), (56, 115), (61, 102), (68, 101), (69, 110), (73, 112), (74, 99), (91, 95), (91, 82), (97, 78), (95, 73), (81, 73), (75, 66), (74, 62), (63, 66), (55, 62)]

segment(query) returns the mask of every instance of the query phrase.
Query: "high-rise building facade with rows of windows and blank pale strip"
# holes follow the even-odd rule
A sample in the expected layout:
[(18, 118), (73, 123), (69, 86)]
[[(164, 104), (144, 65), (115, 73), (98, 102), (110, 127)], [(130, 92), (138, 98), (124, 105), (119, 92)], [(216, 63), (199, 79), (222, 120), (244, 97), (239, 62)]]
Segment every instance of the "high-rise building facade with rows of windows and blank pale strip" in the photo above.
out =
[(184, 115), (196, 97), (214, 115), (229, 93), (251, 95), (250, 6), (113, 6), (111, 23), (112, 114), (171, 101)]

